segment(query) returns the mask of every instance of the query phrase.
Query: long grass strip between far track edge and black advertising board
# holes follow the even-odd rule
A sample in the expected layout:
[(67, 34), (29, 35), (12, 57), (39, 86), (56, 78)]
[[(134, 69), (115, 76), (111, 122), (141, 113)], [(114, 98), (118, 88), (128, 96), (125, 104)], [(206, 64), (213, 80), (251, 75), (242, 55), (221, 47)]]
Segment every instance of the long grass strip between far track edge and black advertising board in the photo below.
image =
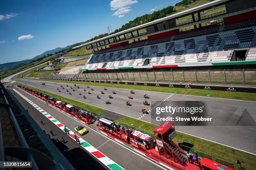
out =
[[(38, 79), (33, 79), (38, 80)], [(42, 79), (41, 79), (42, 80)], [(77, 81), (66, 81), (66, 80), (43, 80), (43, 81), (52, 81), (52, 82), (66, 82), (66, 83), (76, 83), (83, 85), (96, 85), (102, 87), (115, 87), (115, 88), (126, 88), (133, 90), (146, 90), (153, 92), (167, 92), (167, 93), (176, 93), (181, 95), (195, 95), (207, 97), (218, 97), (223, 99), (235, 99), (235, 100), (248, 100), (256, 101), (256, 95), (250, 92), (230, 92), (230, 91), (220, 91), (220, 90), (202, 90), (202, 89), (185, 89), (185, 88), (176, 88), (176, 87), (155, 87), (155, 86), (143, 86), (143, 85), (120, 85), (120, 84), (108, 84), (100, 82), (77, 82)]]

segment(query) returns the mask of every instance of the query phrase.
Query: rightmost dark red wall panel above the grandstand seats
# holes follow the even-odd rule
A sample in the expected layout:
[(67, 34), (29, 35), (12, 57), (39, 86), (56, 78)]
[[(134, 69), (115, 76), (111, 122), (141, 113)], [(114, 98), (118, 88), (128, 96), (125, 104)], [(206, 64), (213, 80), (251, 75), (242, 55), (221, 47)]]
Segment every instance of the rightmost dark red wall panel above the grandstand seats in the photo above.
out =
[(256, 18), (256, 10), (223, 18), (225, 24), (239, 23), (241, 21), (253, 20)]

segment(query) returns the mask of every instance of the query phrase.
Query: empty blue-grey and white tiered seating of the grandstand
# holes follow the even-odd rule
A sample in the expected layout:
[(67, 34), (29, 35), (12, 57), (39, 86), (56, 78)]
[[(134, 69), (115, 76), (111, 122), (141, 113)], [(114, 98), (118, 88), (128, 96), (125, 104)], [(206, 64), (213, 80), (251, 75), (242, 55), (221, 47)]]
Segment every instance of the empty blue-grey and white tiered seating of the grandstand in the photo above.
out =
[(229, 62), (239, 48), (249, 48), (246, 60), (256, 60), (256, 27), (129, 47), (132, 48), (93, 54), (83, 68), (96, 69), (104, 63), (107, 69), (136, 67), (143, 66), (146, 59), (150, 59), (148, 65)]

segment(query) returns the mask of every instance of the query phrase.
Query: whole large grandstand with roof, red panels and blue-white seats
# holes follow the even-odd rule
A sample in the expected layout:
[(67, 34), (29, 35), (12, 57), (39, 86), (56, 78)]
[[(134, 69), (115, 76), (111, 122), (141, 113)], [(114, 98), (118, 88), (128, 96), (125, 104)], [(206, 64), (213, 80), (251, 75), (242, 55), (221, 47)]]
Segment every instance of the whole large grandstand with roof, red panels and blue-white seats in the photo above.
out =
[[(221, 5), (225, 11), (200, 17), (205, 10)], [(80, 70), (254, 65), (255, 6), (250, 0), (215, 0), (73, 49), (86, 46), (93, 50)], [(192, 21), (177, 25), (176, 20), (184, 16)], [(190, 26), (194, 29), (180, 31)], [(139, 34), (141, 29), (146, 33)], [(131, 37), (126, 38), (128, 34)], [(140, 40), (145, 36), (146, 40)]]

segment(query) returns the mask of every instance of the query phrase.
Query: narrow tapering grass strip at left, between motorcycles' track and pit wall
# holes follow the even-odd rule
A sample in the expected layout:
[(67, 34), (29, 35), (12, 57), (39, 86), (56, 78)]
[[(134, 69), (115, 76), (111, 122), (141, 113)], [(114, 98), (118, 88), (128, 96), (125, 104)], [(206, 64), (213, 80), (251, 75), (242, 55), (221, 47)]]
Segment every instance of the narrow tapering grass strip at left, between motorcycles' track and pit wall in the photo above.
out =
[[(12, 85), (18, 85), (18, 84), (23, 85), (23, 84), (20, 83), (20, 82), (13, 82), (13, 83), (12, 83)], [(63, 97), (63, 96), (60, 96), (60, 95), (56, 95), (56, 94), (53, 94), (53, 93), (51, 93), (51, 92), (47, 92), (47, 91), (44, 91), (44, 90), (40, 90), (40, 89), (35, 88), (35, 87), (31, 87), (31, 86), (28, 86), (28, 85), (23, 85), (23, 86), (28, 87), (28, 88), (33, 89), (33, 90), (36, 90), (37, 92), (44, 93), (45, 95), (54, 97), (55, 99), (61, 100), (62, 102), (66, 102), (66, 103), (69, 103), (69, 104), (71, 104), (71, 105), (80, 107), (80, 108), (82, 108), (83, 110), (90, 110), (91, 112), (97, 113), (97, 115), (102, 115), (102, 113), (105, 111), (104, 109), (101, 109), (101, 108), (99, 108), (99, 107), (95, 107), (95, 106), (92, 106), (92, 105), (88, 105), (88, 104), (86, 104), (86, 103), (79, 102), (79, 101), (76, 101), (76, 100), (72, 100), (72, 99), (69, 99), (69, 98), (67, 98), (67, 97)]]

